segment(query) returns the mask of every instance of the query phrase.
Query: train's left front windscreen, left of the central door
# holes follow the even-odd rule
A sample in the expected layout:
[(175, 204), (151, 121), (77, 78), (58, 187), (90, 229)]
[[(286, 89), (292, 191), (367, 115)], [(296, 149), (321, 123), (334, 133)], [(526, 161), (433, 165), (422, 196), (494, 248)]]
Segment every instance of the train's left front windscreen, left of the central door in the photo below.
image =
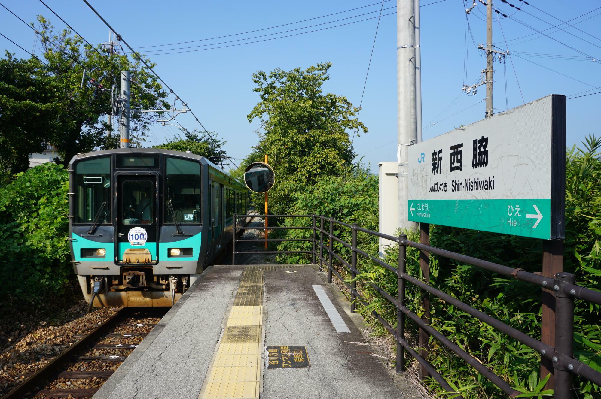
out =
[(111, 223), (111, 158), (75, 163), (74, 223)]

